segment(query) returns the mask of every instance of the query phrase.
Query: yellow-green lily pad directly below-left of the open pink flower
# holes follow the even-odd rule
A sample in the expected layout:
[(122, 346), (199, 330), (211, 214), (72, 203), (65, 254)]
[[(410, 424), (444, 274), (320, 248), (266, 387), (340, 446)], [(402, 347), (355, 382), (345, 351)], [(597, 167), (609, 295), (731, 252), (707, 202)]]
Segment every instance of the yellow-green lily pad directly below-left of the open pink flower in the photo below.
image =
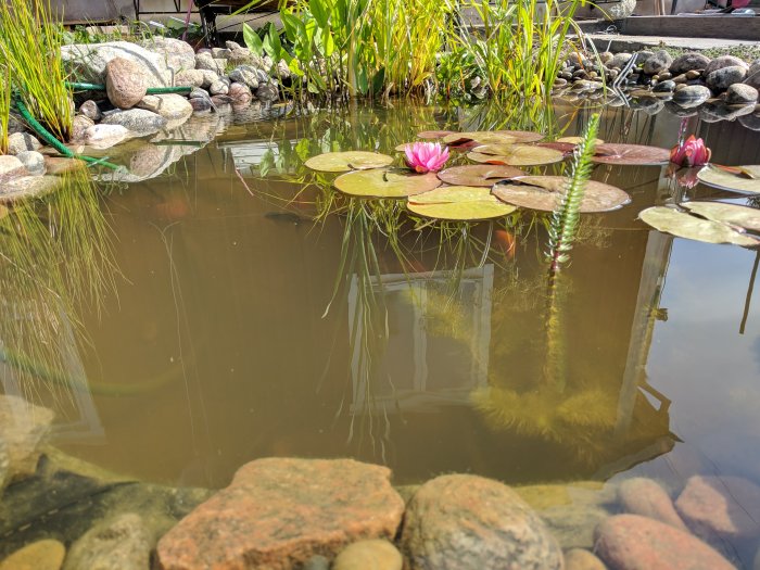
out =
[(371, 169), (347, 173), (335, 178), (334, 187), (351, 195), (406, 198), (441, 186), (433, 173), (413, 174), (404, 169)]

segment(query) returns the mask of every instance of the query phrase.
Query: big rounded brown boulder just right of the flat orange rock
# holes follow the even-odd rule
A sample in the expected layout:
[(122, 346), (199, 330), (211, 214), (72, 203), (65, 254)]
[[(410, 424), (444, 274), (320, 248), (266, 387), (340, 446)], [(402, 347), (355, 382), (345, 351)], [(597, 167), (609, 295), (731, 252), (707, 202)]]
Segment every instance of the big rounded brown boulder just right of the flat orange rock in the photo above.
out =
[(556, 540), (517, 493), (469, 474), (438, 477), (417, 491), (404, 516), (401, 545), (411, 570), (562, 566)]

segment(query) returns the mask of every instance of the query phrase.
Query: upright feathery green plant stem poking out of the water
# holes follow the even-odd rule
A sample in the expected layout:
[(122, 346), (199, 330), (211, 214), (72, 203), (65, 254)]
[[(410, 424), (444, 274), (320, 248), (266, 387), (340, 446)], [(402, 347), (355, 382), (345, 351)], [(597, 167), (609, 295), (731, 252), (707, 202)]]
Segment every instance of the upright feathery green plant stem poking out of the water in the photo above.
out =
[(552, 270), (556, 271), (561, 264), (569, 258), (568, 252), (578, 233), (578, 220), (580, 207), (585, 192), (586, 182), (591, 178), (596, 147), (596, 135), (599, 129), (599, 115), (592, 115), (583, 132), (581, 142), (573, 152), (572, 174), (561, 194), (559, 203), (552, 214), (549, 224), (549, 251), (547, 256), (552, 261)]

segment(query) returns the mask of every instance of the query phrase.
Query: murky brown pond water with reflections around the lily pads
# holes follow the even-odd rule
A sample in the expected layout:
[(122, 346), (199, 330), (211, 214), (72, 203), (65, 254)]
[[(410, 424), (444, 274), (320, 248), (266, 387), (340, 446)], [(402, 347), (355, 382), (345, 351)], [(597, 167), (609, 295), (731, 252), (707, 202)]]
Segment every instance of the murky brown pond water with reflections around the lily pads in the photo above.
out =
[[(333, 176), (302, 166), (432, 128), (574, 135), (588, 116), (519, 111), (214, 116), (130, 143), (119, 159), (136, 181), (101, 183), (80, 241), (50, 261), (61, 279), (35, 290), (3, 269), (16, 316), (0, 324), (3, 345), (45, 364), (5, 365), (5, 392), (55, 409), (67, 453), (172, 485), (224, 486), (268, 456), (382, 463), (400, 484), (451, 471), (760, 483), (758, 254), (636, 219), (685, 198), (746, 200), (681, 188), (660, 167), (599, 166), (594, 179), (632, 202), (583, 217), (549, 287), (543, 215), (413, 219), (398, 202), (342, 200)], [(670, 148), (679, 124), (611, 109), (600, 137)], [(758, 132), (696, 117), (689, 130), (718, 163), (760, 162)], [(40, 213), (54, 221), (59, 207)]]

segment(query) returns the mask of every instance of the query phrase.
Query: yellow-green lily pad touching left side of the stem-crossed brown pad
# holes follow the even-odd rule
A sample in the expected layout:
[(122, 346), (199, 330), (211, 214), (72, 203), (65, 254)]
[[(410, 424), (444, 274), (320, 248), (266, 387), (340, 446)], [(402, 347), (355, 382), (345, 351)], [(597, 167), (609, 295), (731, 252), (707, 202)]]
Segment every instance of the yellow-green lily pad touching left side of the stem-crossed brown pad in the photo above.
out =
[(410, 212), (436, 219), (473, 220), (506, 216), (517, 210), (499, 202), (487, 188), (446, 186), (420, 195), (410, 197)]

